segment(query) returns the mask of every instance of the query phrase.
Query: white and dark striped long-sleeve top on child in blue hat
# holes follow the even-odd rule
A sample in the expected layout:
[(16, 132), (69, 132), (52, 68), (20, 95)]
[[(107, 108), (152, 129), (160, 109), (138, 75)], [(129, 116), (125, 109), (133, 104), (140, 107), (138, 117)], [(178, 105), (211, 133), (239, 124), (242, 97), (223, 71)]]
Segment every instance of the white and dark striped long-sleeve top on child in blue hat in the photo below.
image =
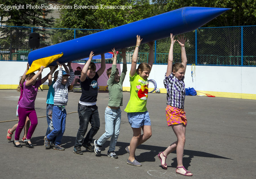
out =
[(62, 68), (59, 68), (59, 74), (56, 82), (53, 84), (54, 88), (54, 105), (65, 106), (68, 101), (68, 86), (75, 79), (74, 71), (70, 70), (69, 80), (65, 85), (61, 84), (62, 81)]

